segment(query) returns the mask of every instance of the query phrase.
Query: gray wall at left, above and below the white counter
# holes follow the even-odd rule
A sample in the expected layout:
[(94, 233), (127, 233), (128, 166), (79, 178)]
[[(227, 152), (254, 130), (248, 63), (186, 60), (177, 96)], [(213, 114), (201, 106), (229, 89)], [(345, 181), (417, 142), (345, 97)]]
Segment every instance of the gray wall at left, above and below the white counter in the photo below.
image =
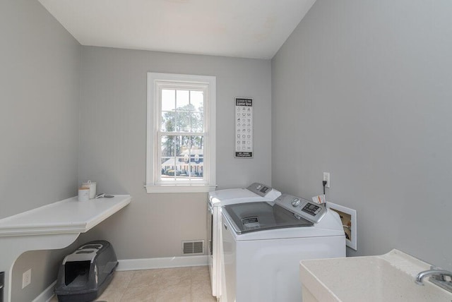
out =
[[(1, 219), (76, 195), (81, 46), (30, 0), (0, 1), (0, 37)], [(59, 260), (58, 251), (21, 256), (13, 301), (49, 286)], [(21, 289), (29, 268), (32, 284)]]

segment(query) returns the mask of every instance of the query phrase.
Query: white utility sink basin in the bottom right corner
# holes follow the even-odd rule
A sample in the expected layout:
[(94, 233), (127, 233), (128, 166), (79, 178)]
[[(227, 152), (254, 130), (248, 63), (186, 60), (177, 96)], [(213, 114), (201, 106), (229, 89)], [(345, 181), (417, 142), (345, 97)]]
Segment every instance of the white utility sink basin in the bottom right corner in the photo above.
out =
[(352, 258), (302, 260), (300, 278), (303, 302), (311, 301), (452, 301), (452, 293), (424, 278), (426, 262), (400, 250), (385, 255)]

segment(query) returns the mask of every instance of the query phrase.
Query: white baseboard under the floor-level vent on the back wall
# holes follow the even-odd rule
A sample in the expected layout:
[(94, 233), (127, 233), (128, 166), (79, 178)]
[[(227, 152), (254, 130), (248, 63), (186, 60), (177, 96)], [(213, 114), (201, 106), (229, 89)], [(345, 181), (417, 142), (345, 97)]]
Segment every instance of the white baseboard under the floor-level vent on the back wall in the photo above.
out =
[(167, 258), (145, 258), (118, 260), (117, 271), (150, 270), (153, 268), (203, 266), (208, 264), (208, 255)]

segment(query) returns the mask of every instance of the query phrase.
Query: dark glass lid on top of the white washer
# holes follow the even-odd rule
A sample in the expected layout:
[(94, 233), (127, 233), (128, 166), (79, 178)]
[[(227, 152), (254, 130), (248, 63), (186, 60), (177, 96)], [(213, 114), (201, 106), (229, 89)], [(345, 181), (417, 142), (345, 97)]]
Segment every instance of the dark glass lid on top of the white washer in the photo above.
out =
[(296, 217), (280, 205), (267, 202), (238, 203), (223, 207), (237, 234), (288, 227), (312, 227), (307, 219)]

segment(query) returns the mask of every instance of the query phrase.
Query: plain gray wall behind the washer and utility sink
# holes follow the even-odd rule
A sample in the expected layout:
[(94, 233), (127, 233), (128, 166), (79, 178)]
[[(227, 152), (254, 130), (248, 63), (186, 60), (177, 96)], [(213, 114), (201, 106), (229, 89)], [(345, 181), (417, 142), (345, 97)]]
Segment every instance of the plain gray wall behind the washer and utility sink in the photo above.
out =
[(272, 60), (273, 186), (358, 214), (358, 250), (452, 268), (452, 2), (319, 0)]

